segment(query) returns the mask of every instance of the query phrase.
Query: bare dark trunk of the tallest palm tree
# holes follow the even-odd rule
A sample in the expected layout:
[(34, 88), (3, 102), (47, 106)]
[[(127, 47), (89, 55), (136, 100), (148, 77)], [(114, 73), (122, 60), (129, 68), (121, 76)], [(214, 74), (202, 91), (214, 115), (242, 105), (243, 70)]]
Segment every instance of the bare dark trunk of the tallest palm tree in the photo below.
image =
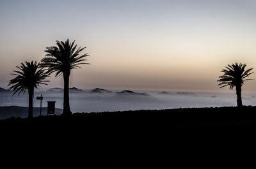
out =
[(70, 71), (63, 73), (63, 78), (64, 78), (63, 115), (72, 114), (69, 106), (69, 75), (70, 75)]

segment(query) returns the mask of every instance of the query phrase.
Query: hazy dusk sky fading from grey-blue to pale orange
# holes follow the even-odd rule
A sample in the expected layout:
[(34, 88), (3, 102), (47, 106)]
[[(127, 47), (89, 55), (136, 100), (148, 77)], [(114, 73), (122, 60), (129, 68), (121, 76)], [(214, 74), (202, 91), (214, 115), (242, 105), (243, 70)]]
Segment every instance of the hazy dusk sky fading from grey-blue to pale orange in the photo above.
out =
[[(70, 87), (234, 92), (216, 80), (227, 64), (256, 68), (255, 8), (252, 0), (0, 0), (0, 87), (15, 66), (68, 38), (91, 63), (72, 71)], [(63, 87), (62, 77), (48, 80), (42, 89)], [(256, 81), (242, 90), (256, 93)]]

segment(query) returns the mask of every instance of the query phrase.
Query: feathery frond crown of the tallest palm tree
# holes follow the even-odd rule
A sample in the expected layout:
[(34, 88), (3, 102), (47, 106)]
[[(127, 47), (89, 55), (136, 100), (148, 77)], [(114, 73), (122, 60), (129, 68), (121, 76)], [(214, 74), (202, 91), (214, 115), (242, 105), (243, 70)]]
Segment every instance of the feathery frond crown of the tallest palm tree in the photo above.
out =
[[(56, 41), (58, 47), (46, 47), (45, 52), (47, 54), (42, 59), (41, 66), (47, 67), (49, 73), (56, 72), (55, 77), (61, 75), (64, 72), (70, 72), (74, 68), (81, 68), (79, 64), (89, 64), (82, 61), (86, 61), (84, 57), (88, 54), (80, 55), (79, 53), (84, 50), (86, 47), (79, 47), (74, 45), (75, 41), (70, 43), (68, 40), (65, 41)], [(77, 50), (76, 50), (77, 48)]]

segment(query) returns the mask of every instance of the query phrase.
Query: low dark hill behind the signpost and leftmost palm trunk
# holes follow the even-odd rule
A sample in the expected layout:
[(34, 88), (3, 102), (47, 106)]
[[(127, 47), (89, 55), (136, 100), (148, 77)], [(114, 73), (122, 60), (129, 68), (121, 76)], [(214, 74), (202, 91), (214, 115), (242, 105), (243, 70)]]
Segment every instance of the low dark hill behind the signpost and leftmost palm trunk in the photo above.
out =
[[(62, 110), (60, 108), (55, 108), (55, 114), (60, 115)], [(36, 117), (40, 115), (40, 107), (33, 108), (33, 116)], [(47, 107), (42, 107), (42, 115), (47, 115)], [(0, 107), (0, 119), (6, 119), (9, 117), (28, 117), (28, 107)]]

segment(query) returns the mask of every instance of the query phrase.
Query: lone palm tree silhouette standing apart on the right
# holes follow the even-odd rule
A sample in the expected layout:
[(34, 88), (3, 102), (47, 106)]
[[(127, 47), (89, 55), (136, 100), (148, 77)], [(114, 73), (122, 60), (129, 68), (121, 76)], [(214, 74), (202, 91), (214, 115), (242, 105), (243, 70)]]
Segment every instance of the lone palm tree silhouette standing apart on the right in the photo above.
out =
[[(237, 95), (237, 107), (243, 107), (242, 103), (242, 97), (241, 97), (241, 91), (242, 91), (242, 85), (245, 81), (252, 80), (252, 79), (245, 79), (249, 75), (251, 75), (253, 72), (250, 72), (253, 70), (253, 68), (250, 68), (248, 70), (244, 70), (246, 67), (246, 64), (228, 64), (228, 66), (225, 66), (225, 70), (221, 70), (224, 74), (220, 76), (220, 82), (221, 87), (225, 87), (229, 85), (229, 89), (233, 89), (236, 87), (236, 95)], [(220, 88), (221, 88), (220, 87)]]

